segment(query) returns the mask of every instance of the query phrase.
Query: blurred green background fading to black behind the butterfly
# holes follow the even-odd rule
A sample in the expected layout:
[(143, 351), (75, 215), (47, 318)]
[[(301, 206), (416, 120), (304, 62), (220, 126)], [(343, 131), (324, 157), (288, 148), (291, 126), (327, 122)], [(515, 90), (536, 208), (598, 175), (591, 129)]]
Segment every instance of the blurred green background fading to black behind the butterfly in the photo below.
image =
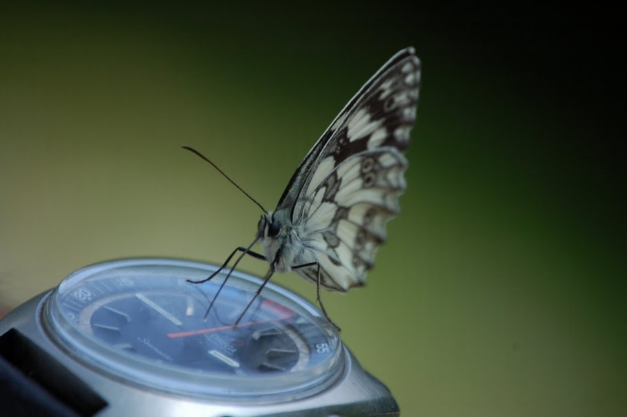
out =
[[(413, 45), (403, 211), (366, 288), (323, 294), (342, 339), (404, 416), (624, 413), (622, 52), (588, 11), (547, 10), (1, 6), (0, 305), (96, 261), (223, 261), (259, 209), (180, 146), (273, 208)], [(274, 281), (315, 299), (295, 274)]]

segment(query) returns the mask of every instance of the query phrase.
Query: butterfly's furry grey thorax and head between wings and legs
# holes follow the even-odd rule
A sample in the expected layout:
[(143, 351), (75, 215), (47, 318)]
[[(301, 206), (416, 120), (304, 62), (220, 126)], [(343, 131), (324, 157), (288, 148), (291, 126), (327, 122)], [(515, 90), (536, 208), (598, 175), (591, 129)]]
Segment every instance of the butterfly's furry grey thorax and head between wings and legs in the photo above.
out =
[(261, 240), (270, 268), (289, 272), (292, 266), (303, 263), (300, 259), (303, 244), (292, 224), (289, 208), (279, 208), (262, 215), (257, 225), (257, 237)]

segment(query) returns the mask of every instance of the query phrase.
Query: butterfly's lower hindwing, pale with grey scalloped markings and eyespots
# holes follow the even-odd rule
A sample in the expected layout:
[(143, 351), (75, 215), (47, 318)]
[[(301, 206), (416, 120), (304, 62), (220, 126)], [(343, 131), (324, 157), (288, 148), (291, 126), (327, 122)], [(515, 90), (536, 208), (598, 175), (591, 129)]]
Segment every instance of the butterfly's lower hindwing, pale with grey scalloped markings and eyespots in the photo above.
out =
[(303, 208), (300, 233), (331, 277), (324, 286), (345, 291), (364, 283), (386, 240), (385, 224), (399, 211), (406, 167), (402, 153), (382, 147), (350, 156), (318, 184)]

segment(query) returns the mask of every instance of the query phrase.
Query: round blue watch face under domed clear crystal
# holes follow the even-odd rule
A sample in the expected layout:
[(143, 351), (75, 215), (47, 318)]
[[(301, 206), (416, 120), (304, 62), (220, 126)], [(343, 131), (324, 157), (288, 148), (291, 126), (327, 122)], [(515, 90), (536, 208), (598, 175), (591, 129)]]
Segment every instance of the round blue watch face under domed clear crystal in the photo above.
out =
[(342, 374), (338, 333), (309, 303), (268, 284), (233, 323), (261, 281), (216, 266), (129, 259), (88, 266), (52, 292), (44, 324), (92, 369), (185, 396), (259, 401), (301, 398)]

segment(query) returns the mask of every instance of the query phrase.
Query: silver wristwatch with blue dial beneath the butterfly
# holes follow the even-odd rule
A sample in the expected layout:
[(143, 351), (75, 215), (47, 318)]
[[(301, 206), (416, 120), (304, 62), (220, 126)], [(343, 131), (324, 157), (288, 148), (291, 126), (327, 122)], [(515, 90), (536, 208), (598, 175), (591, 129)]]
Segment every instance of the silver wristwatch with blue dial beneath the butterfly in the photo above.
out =
[(317, 308), (267, 284), (234, 326), (261, 280), (188, 282), (216, 270), (107, 261), (19, 306), (0, 321), (0, 414), (399, 416)]

